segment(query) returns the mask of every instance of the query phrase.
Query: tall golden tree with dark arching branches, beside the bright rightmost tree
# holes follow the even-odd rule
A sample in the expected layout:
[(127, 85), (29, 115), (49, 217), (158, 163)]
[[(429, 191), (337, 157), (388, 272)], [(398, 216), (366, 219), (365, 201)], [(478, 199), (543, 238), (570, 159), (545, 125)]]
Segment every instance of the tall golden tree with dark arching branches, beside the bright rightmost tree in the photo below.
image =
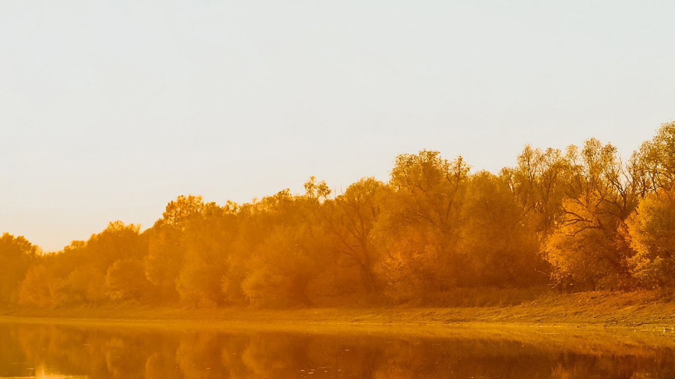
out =
[(620, 230), (638, 197), (616, 148), (591, 139), (579, 152), (570, 146), (567, 198), (556, 230), (544, 246), (556, 283), (589, 288), (626, 285), (630, 254)]

